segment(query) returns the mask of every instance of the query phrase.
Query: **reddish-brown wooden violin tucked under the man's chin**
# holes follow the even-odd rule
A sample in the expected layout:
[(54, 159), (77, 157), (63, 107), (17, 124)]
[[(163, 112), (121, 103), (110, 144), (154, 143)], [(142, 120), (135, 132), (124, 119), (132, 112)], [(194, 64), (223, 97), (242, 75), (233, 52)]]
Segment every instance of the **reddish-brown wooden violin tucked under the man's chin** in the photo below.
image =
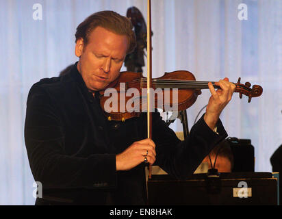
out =
[[(251, 83), (246, 82), (243, 84), (240, 83), (240, 80), (241, 78), (238, 79), (237, 83), (234, 83), (236, 86), (234, 92), (238, 92), (241, 99), (244, 94), (248, 96), (248, 103), (250, 103), (253, 97), (262, 94), (263, 89), (261, 86), (254, 85), (251, 88)], [(177, 111), (186, 110), (195, 103), (198, 95), (201, 94), (201, 89), (209, 88), (207, 83), (209, 81), (196, 81), (194, 75), (187, 70), (164, 73), (162, 77), (152, 79), (151, 88), (153, 88), (153, 91), (157, 90), (157, 92), (154, 92), (154, 96), (151, 96), (154, 102), (151, 105), (154, 109), (162, 109), (163, 112), (166, 112), (166, 109), (171, 109), (172, 105), (175, 105), (174, 109), (177, 109)], [(219, 86), (215, 85), (214, 81), (211, 81), (211, 83), (214, 88), (220, 89)], [(142, 73), (122, 72), (107, 88), (111, 89), (100, 92), (100, 105), (108, 120), (125, 121), (140, 116), (141, 112), (146, 111), (144, 106), (147, 102), (147, 79), (143, 77)], [(174, 91), (177, 92), (177, 98), (175, 99), (173, 98)], [(113, 101), (111, 102), (110, 99)], [(109, 103), (112, 103), (112, 105), (109, 105)], [(159, 103), (162, 103), (162, 105)], [(106, 106), (110, 107), (106, 108)], [(154, 109), (151, 108), (150, 112), (154, 112)]]

